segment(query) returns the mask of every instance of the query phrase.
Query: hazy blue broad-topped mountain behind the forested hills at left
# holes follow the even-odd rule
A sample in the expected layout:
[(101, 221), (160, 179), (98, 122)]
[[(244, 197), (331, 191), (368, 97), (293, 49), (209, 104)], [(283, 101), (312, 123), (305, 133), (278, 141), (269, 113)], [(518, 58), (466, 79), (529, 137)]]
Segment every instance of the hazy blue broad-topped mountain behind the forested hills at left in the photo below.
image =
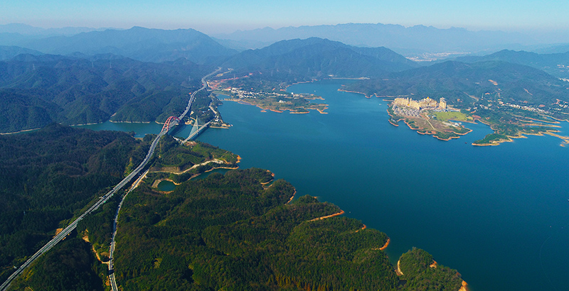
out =
[(162, 30), (133, 27), (127, 30), (90, 31), (73, 36), (28, 40), (18, 45), (42, 53), (87, 55), (112, 53), (145, 62), (164, 62), (184, 57), (193, 62), (237, 53), (193, 29)]

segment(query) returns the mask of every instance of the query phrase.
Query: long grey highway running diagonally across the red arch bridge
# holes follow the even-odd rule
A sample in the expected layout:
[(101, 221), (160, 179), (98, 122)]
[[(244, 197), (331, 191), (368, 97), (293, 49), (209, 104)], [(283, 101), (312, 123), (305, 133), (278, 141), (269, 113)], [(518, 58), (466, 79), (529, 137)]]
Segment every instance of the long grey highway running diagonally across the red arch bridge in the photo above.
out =
[[(193, 92), (191, 94), (190, 100), (188, 101), (188, 106), (186, 106), (186, 110), (179, 116), (179, 119), (183, 119), (184, 116), (186, 116), (186, 114), (188, 113), (188, 111), (190, 111), (191, 109), (191, 104), (193, 103), (193, 99), (196, 97), (196, 93), (200, 92), (203, 89), (206, 89), (206, 87), (208, 87), (208, 83), (206, 82), (206, 78), (215, 74), (216, 72), (218, 72), (219, 70), (221, 70), (221, 68), (219, 67), (217, 70), (211, 72), (209, 75), (206, 75), (205, 77), (203, 77), (201, 79), (201, 82), (203, 84), (203, 86), (198, 89), (198, 91)], [(8, 287), (10, 286), (11, 282), (18, 278), (18, 276), (23, 272), (23, 270), (25, 270), (26, 268), (28, 268), (29, 265), (31, 265), (31, 263), (33, 263), (34, 260), (36, 260), (37, 258), (39, 258), (41, 255), (43, 255), (43, 253), (46, 253), (47, 251), (49, 251), (51, 248), (53, 248), (53, 246), (55, 246), (57, 243), (59, 243), (60, 241), (63, 240), (63, 238), (65, 238), (65, 236), (67, 236), (68, 234), (70, 234), (71, 231), (73, 231), (76, 227), (77, 224), (79, 223), (79, 221), (81, 221), (87, 214), (90, 214), (91, 212), (94, 212), (95, 210), (97, 210), (102, 204), (104, 204), (105, 202), (107, 202), (107, 200), (112, 197), (112, 195), (114, 195), (117, 191), (121, 190), (122, 187), (124, 187), (124, 185), (127, 185), (127, 183), (129, 183), (133, 177), (139, 175), (139, 172), (146, 167), (147, 163), (149, 162), (150, 158), (152, 157), (152, 155), (154, 154), (154, 150), (156, 149), (156, 146), (158, 146), (158, 142), (160, 141), (160, 138), (162, 136), (164, 136), (164, 134), (168, 133), (168, 131), (171, 128), (174, 128), (174, 126), (176, 126), (178, 124), (177, 121), (175, 121), (173, 124), (171, 124), (168, 128), (165, 128), (165, 130), (160, 131), (160, 133), (158, 134), (158, 136), (156, 136), (156, 138), (154, 138), (154, 141), (152, 141), (150, 148), (148, 150), (148, 153), (146, 155), (146, 157), (144, 157), (144, 160), (142, 160), (142, 162), (140, 163), (140, 165), (134, 169), (127, 177), (125, 177), (121, 182), (119, 182), (119, 184), (117, 184), (114, 188), (112, 188), (112, 190), (110, 190), (109, 192), (107, 192), (107, 194), (105, 194), (104, 196), (100, 197), (99, 200), (97, 200), (97, 202), (95, 202), (95, 204), (93, 204), (91, 207), (89, 207), (89, 209), (87, 209), (87, 211), (83, 212), (83, 214), (81, 214), (81, 216), (79, 216), (77, 219), (75, 219), (75, 221), (73, 221), (71, 224), (69, 224), (69, 226), (67, 226), (65, 229), (63, 229), (63, 231), (61, 231), (57, 236), (53, 237), (51, 239), (51, 241), (49, 241), (48, 243), (46, 243), (45, 246), (43, 246), (42, 248), (39, 249), (39, 251), (37, 251), (36, 253), (33, 254), (33, 256), (31, 256), (30, 258), (28, 258), (28, 260), (26, 260), (25, 263), (23, 263), (20, 268), (18, 268), (4, 283), (2, 283), (2, 285), (0, 285), (0, 291), (5, 291), (8, 289)], [(124, 199), (124, 197), (123, 197)], [(121, 201), (122, 204), (122, 201)], [(118, 214), (118, 212), (117, 212)], [(116, 224), (115, 224), (116, 227)], [(113, 236), (114, 238), (114, 236)], [(115, 248), (115, 241), (113, 240), (111, 243), (111, 248), (112, 251), (114, 251)], [(110, 263), (110, 270), (111, 269), (111, 263)], [(115, 275), (114, 273), (112, 274), (112, 279), (115, 279)], [(114, 281), (114, 280), (112, 280)], [(116, 285), (116, 282), (115, 282)], [(117, 290), (117, 289), (113, 289), (113, 290)]]

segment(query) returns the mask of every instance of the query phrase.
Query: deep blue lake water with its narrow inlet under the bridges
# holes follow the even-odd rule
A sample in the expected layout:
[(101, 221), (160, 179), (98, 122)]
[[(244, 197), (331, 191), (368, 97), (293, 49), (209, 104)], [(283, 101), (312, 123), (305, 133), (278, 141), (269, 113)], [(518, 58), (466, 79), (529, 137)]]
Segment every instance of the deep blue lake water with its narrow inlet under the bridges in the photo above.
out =
[[(323, 96), (329, 114), (277, 114), (225, 101), (220, 113), (233, 127), (209, 128), (198, 140), (384, 231), (392, 263), (415, 246), (459, 270), (472, 291), (569, 290), (569, 148), (559, 138), (476, 147), (472, 141), (491, 130), (464, 123), (472, 133), (439, 141), (390, 125), (381, 99), (338, 92), (346, 82), (289, 87)], [(161, 128), (113, 124), (139, 136)], [(560, 126), (569, 135), (569, 124)], [(175, 134), (185, 138), (189, 129)]]

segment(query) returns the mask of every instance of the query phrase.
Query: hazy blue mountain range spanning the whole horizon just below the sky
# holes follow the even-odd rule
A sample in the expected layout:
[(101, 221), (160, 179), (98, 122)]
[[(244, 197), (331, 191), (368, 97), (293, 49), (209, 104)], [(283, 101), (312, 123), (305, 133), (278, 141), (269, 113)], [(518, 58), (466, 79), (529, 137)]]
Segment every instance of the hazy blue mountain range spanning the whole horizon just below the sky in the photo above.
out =
[[(100, 34), (97, 34), (100, 33)], [(87, 34), (85, 36), (78, 36)], [(150, 35), (148, 38), (143, 35)], [(196, 35), (200, 35), (197, 37)], [(568, 33), (524, 33), (511, 31), (470, 31), (465, 28), (435, 28), (432, 26), (400, 26), (383, 23), (343, 23), (323, 26), (299, 26), (284, 28), (260, 28), (250, 31), (212, 34), (204, 38), (203, 33), (193, 29), (168, 31), (133, 27), (117, 28), (37, 28), (21, 23), (0, 25), (0, 45), (17, 45), (23, 48), (40, 50), (43, 53), (68, 54), (115, 53), (143, 61), (174, 60), (187, 57), (200, 62), (203, 45), (220, 44), (225, 50), (248, 50), (265, 48), (280, 40), (295, 38), (327, 38), (358, 47), (386, 47), (405, 56), (418, 56), (424, 53), (477, 53), (484, 55), (499, 50), (530, 50), (536, 53), (564, 53), (569, 50)], [(207, 36), (207, 35), (205, 35)], [(63, 38), (65, 37), (65, 38)], [(46, 40), (46, 38), (51, 38)], [(68, 39), (67, 39), (68, 38)], [(124, 39), (120, 39), (124, 38)], [(82, 43), (83, 40), (97, 39), (99, 43)], [(134, 43), (130, 40), (135, 40)], [(152, 47), (157, 55), (144, 54)], [(196, 44), (196, 40), (199, 43)], [(58, 45), (58, 42), (65, 45)], [(146, 47), (137, 47), (146, 43)], [(156, 43), (161, 43), (156, 45)], [(46, 45), (43, 47), (42, 45)], [(32, 47), (33, 46), (33, 47)], [(206, 56), (227, 55), (227, 51), (214, 45)], [(88, 50), (85, 51), (85, 50)], [(166, 51), (177, 50), (172, 55)], [(195, 50), (195, 51), (193, 51)], [(71, 52), (70, 52), (71, 51)], [(155, 53), (156, 53), (155, 52)], [(201, 53), (198, 53), (201, 52)], [(139, 57), (138, 53), (143, 56)], [(166, 55), (164, 55), (166, 54)], [(196, 55), (195, 57), (193, 55)], [(438, 57), (439, 59), (442, 57)]]

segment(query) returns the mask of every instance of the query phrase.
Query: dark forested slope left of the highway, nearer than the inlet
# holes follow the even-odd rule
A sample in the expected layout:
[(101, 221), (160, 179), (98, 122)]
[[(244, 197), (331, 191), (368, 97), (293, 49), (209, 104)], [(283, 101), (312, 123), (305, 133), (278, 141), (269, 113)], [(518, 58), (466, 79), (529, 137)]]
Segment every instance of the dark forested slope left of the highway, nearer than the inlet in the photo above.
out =
[(127, 133), (57, 123), (0, 136), (0, 281), (53, 238), (60, 221), (122, 180), (148, 147)]

